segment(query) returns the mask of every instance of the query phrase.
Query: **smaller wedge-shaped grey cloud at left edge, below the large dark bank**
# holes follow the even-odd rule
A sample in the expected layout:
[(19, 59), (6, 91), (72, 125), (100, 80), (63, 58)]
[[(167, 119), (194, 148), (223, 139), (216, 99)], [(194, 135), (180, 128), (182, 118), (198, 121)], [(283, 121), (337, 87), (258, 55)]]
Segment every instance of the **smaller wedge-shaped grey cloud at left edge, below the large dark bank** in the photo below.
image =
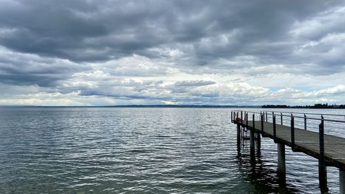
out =
[(57, 86), (57, 82), (68, 79), (74, 72), (88, 67), (67, 60), (23, 55), (0, 49), (0, 82), (10, 85), (42, 87)]

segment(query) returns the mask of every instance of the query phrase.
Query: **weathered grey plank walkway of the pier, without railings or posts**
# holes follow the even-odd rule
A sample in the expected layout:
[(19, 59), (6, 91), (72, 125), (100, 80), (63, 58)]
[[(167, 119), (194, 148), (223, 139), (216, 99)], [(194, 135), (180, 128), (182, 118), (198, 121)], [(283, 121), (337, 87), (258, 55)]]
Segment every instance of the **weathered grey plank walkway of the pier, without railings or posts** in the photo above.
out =
[[(255, 130), (256, 133), (261, 133), (263, 136), (274, 139), (273, 135), (273, 123), (264, 123), (264, 132), (262, 132), (262, 122), (255, 121), (253, 128), (253, 121), (236, 122), (243, 127)], [(277, 143), (282, 143), (292, 147), (290, 126), (284, 126), (276, 124), (276, 139)], [(311, 155), (319, 159), (319, 133), (295, 128), (295, 151), (301, 151), (307, 155)], [(327, 166), (336, 166), (342, 171), (345, 170), (345, 139), (342, 137), (336, 137), (333, 135), (324, 135), (324, 159)]]

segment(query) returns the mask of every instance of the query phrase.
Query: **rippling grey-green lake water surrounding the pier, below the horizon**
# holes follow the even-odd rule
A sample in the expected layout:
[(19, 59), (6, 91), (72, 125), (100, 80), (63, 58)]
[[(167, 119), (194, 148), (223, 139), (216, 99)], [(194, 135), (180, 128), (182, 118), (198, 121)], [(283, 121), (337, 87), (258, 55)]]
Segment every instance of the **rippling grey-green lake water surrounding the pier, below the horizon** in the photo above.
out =
[(319, 193), (313, 157), (286, 147), (279, 188), (273, 140), (255, 164), (247, 142), (238, 154), (231, 110), (0, 108), (0, 193)]

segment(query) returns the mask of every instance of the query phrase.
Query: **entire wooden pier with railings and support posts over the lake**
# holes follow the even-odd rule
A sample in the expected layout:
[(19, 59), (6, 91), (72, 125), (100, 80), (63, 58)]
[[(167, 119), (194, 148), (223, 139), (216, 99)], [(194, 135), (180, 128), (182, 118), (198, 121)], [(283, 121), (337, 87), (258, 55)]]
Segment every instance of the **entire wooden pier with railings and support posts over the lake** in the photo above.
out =
[[(255, 114), (259, 119), (255, 120)], [(297, 113), (301, 114), (301, 113)], [(304, 113), (302, 113), (304, 114)], [(270, 115), (271, 122), (268, 122)], [(249, 117), (248, 117), (249, 116)], [(265, 119), (266, 116), (266, 119)], [(344, 116), (344, 115), (339, 115)], [(276, 117), (280, 117), (277, 124)], [(250, 155), (255, 157), (255, 142), (260, 149), (262, 137), (269, 137), (277, 143), (279, 184), (284, 185), (286, 180), (285, 145), (290, 146), (295, 152), (306, 153), (319, 160), (319, 188), (322, 193), (328, 192), (326, 166), (339, 168), (339, 191), (345, 194), (345, 138), (324, 134), (324, 122), (341, 122), (344, 120), (324, 119), (320, 115), (315, 117), (294, 116), (292, 113), (284, 115), (288, 117), (290, 126), (283, 125), (283, 114), (255, 113), (246, 111), (233, 111), (231, 122), (237, 124), (237, 148), (240, 149), (243, 134), (242, 129), (250, 130)], [(295, 118), (304, 119), (304, 128), (295, 128)], [(319, 131), (307, 130), (307, 119), (319, 120)], [(255, 141), (255, 137), (256, 141)]]

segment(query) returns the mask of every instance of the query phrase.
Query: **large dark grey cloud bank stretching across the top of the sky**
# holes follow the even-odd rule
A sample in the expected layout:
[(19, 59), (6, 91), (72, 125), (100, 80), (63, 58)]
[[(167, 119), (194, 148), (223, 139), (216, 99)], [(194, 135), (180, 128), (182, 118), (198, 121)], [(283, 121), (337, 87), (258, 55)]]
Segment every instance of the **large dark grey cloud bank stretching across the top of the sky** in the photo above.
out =
[[(14, 3), (16, 2), (16, 3)], [(102, 61), (170, 43), (190, 43), (197, 64), (235, 55), (285, 59), (294, 21), (335, 1), (4, 1), (0, 43), (20, 52)], [(228, 39), (228, 42), (226, 42)], [(225, 42), (224, 42), (225, 41)], [(266, 43), (266, 46), (265, 46)], [(278, 51), (279, 50), (279, 51)]]

